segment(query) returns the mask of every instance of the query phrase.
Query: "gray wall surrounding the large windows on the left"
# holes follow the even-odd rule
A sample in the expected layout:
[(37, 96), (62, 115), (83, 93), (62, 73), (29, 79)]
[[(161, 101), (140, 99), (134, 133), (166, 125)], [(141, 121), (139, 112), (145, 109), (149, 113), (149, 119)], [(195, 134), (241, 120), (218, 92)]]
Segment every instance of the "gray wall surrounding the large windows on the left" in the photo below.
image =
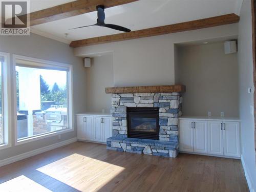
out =
[[(12, 54), (18, 54), (73, 65), (74, 114), (86, 110), (86, 70), (83, 67), (82, 58), (75, 57), (73, 49), (69, 45), (35, 34), (30, 36), (0, 36), (0, 51), (11, 54), (11, 63)], [(15, 96), (13, 92), (12, 96)], [(12, 133), (14, 133), (14, 127), (12, 127)], [(76, 137), (76, 129), (73, 132), (62, 134), (60, 140), (57, 136), (53, 136), (14, 146), (14, 134), (12, 134), (12, 147), (0, 151), (0, 160), (74, 137)]]

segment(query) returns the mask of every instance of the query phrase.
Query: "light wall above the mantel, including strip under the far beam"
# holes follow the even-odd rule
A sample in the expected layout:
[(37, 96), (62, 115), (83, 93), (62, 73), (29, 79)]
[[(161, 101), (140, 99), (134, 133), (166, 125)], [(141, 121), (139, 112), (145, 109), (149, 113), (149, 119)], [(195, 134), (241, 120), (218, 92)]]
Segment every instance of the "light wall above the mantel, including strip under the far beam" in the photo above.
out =
[(238, 35), (238, 25), (146, 37), (74, 49), (76, 56), (113, 52), (114, 86), (175, 83), (174, 44)]

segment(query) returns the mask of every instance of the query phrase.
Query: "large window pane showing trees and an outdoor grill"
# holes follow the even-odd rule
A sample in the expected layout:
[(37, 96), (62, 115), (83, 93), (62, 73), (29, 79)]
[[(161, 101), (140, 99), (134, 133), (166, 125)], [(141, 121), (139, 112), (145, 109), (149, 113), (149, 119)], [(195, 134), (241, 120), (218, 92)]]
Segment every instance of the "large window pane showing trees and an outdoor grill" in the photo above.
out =
[(17, 142), (72, 129), (69, 67), (16, 59), (15, 74)]

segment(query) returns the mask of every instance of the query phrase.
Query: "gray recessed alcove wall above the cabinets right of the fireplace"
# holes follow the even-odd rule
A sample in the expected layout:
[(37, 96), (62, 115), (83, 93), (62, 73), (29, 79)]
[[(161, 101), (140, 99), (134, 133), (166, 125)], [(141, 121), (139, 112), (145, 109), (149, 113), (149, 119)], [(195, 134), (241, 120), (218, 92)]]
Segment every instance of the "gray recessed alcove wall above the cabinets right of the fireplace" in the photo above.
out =
[(224, 42), (176, 47), (176, 84), (185, 84), (183, 115), (238, 117), (237, 53), (225, 54)]

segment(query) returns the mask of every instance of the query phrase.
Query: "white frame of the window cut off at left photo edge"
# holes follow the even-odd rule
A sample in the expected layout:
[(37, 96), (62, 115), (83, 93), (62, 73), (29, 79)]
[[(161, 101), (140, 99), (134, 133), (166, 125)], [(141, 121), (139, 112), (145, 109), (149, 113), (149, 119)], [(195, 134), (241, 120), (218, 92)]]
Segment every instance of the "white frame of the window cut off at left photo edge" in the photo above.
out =
[(11, 138), (11, 73), (10, 73), (10, 54), (0, 52), (0, 56), (4, 57), (2, 63), (2, 113), (4, 114), (3, 121), (3, 134), (4, 143), (0, 144), (0, 150), (12, 146)]

